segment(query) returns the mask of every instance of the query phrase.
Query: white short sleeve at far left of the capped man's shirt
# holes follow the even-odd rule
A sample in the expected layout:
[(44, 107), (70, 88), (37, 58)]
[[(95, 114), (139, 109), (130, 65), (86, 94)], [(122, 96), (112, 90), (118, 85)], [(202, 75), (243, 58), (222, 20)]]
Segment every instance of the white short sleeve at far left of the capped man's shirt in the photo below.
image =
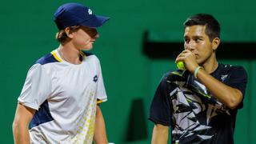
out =
[(22, 88), (22, 93), (18, 97), (18, 102), (34, 110), (38, 110), (42, 102), (50, 96), (51, 82), (46, 70), (41, 64), (31, 66), (26, 81)]

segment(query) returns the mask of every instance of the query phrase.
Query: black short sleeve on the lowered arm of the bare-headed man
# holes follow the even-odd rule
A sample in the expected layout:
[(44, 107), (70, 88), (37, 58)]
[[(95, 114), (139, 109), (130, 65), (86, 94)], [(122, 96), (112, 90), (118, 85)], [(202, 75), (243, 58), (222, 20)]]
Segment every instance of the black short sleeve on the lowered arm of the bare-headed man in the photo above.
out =
[(170, 126), (173, 111), (167, 84), (166, 77), (163, 77), (151, 102), (149, 118), (150, 121), (164, 126)]

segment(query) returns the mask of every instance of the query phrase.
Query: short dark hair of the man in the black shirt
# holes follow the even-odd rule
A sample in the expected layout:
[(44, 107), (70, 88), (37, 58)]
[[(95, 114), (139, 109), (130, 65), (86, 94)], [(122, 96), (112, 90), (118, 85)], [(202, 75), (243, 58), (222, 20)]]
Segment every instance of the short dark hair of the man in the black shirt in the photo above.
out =
[(183, 23), (185, 28), (187, 26), (195, 25), (206, 26), (206, 34), (210, 38), (210, 41), (213, 41), (214, 38), (220, 38), (221, 27), (214, 16), (210, 14), (195, 14), (190, 18), (187, 18)]

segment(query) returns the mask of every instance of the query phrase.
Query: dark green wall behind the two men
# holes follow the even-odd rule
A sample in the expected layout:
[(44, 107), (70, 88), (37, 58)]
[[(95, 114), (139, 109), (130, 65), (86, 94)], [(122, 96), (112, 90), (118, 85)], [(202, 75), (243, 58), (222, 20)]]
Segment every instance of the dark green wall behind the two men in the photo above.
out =
[[(174, 58), (150, 59), (142, 54), (143, 33), (154, 41), (182, 42), (182, 22), (191, 14), (214, 14), (222, 24), (222, 42), (256, 42), (253, 0), (109, 0), (4, 1), (0, 5), (1, 101), (0, 143), (13, 143), (12, 122), (26, 72), (35, 60), (58, 47), (54, 11), (65, 2), (81, 2), (94, 13), (110, 16), (100, 28), (94, 54), (100, 58), (108, 102), (102, 104), (110, 142), (150, 143), (153, 124), (146, 120), (154, 90)], [(230, 49), (232, 54), (232, 47)], [(254, 49), (254, 47), (241, 48)], [(182, 50), (182, 47), (181, 47)], [(245, 54), (246, 55), (246, 54)], [(239, 110), (236, 143), (256, 141), (255, 59), (220, 60), (242, 65), (249, 74), (244, 108)]]

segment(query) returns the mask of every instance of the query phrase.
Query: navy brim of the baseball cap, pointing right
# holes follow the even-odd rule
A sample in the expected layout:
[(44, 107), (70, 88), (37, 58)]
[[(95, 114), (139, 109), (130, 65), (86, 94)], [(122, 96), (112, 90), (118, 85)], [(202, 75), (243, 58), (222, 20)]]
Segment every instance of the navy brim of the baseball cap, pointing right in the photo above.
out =
[(88, 27), (91, 27), (91, 28), (97, 28), (99, 26), (102, 26), (109, 19), (110, 18), (108, 18), (108, 17), (95, 15), (95, 17), (90, 18), (90, 20), (88, 20), (86, 22), (82, 22), (81, 26), (88, 26)]

